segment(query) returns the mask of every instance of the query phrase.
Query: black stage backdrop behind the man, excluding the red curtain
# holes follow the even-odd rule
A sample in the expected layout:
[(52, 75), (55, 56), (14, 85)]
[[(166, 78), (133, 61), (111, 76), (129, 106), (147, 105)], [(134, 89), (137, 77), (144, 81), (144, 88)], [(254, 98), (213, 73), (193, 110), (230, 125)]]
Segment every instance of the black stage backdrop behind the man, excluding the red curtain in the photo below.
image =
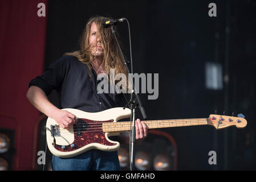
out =
[[(217, 17), (208, 15), (212, 2)], [(256, 169), (256, 1), (49, 1), (44, 68), (78, 49), (83, 28), (94, 15), (127, 18), (133, 71), (159, 73), (157, 100), (140, 94), (148, 119), (204, 118), (216, 111), (245, 115), (245, 129), (161, 129), (176, 140), (178, 170)], [(128, 26), (117, 29), (129, 57)], [(205, 87), (206, 61), (220, 63), (222, 76), (229, 75), (223, 89)], [(58, 105), (56, 93), (49, 98)], [(142, 119), (139, 110), (137, 118)], [(211, 166), (212, 150), (217, 165)]]

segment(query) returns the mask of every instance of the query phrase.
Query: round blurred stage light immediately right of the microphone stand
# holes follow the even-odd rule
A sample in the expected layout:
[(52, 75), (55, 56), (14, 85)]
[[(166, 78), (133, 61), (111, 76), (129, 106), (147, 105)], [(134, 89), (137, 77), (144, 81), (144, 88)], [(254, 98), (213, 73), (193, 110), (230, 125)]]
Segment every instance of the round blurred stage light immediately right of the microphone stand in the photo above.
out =
[(151, 155), (145, 151), (136, 152), (135, 167), (140, 171), (145, 171), (151, 168)]

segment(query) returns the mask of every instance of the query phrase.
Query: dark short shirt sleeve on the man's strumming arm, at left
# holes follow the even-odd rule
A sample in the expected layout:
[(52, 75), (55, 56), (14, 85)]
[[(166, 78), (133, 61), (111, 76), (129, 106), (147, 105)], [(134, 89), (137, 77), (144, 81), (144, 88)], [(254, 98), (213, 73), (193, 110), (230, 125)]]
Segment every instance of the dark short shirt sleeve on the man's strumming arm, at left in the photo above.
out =
[(66, 75), (66, 70), (67, 64), (64, 57), (62, 57), (52, 63), (42, 75), (32, 79), (29, 83), (29, 88), (30, 86), (38, 86), (48, 96), (51, 90), (59, 90)]

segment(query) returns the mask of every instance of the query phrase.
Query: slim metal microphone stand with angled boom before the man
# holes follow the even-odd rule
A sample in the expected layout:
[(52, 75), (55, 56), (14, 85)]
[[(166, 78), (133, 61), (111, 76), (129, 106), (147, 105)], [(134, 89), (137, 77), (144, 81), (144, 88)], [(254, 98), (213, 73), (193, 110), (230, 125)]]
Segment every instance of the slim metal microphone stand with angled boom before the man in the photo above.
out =
[[(123, 58), (123, 61), (124, 61), (124, 65), (127, 69), (127, 72), (128, 72), (128, 77), (129, 77), (129, 80), (131, 80), (131, 72), (129, 71), (129, 68), (128, 68), (128, 65), (127, 65), (127, 60), (125, 60), (124, 58), (124, 55), (123, 55), (123, 51), (121, 50), (121, 47), (120, 47), (120, 44), (118, 42), (118, 39), (116, 37), (116, 31), (115, 31), (115, 25), (112, 25), (111, 26), (111, 30), (112, 30), (112, 33), (113, 35), (115, 36), (115, 39), (116, 39), (116, 43), (117, 43), (117, 46), (119, 47), (119, 50), (121, 52), (121, 56)], [(137, 98), (137, 102), (136, 103), (135, 101), (133, 101), (133, 93), (135, 93), (135, 96)], [(139, 95), (137, 94), (136, 92), (136, 89), (135, 89), (135, 86), (134, 86), (134, 83), (133, 83), (133, 80), (132, 80), (132, 92), (131, 92), (131, 100), (129, 101), (129, 105), (130, 105), (130, 109), (131, 109), (131, 121), (132, 121), (132, 139), (131, 139), (131, 143), (130, 143), (130, 146), (131, 146), (131, 158), (130, 158), (130, 169), (131, 171), (133, 171), (133, 168), (134, 168), (134, 159), (135, 159), (135, 156), (134, 156), (134, 148), (135, 148), (135, 139), (136, 139), (136, 130), (135, 130), (135, 109), (137, 108), (137, 105), (139, 105), (139, 109), (141, 111), (141, 114), (143, 115), (143, 118), (147, 118), (147, 115), (145, 113), (145, 109), (144, 107), (141, 105), (141, 101), (140, 101), (140, 97)]]

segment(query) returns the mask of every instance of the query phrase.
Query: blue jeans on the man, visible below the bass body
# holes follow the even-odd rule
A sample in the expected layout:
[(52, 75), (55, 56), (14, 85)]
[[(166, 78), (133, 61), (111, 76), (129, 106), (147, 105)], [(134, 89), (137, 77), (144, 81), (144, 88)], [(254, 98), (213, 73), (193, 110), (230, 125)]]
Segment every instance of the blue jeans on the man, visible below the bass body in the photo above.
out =
[(52, 155), (54, 171), (117, 171), (120, 170), (117, 151), (90, 150), (72, 158), (59, 158)]

